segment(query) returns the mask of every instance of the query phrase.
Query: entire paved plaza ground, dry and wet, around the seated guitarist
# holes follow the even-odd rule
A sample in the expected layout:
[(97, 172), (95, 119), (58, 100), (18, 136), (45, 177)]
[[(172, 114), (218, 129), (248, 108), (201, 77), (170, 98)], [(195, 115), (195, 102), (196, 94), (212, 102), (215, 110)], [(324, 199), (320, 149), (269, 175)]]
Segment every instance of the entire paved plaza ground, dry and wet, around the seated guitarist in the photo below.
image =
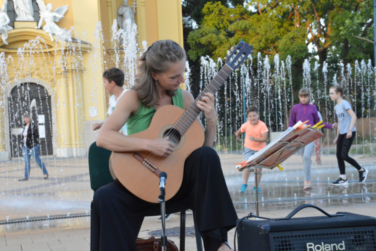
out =
[[(253, 175), (249, 189), (239, 193), (242, 174), (235, 164), (243, 159), (241, 154), (220, 154), (223, 173), (233, 199), (238, 217), (256, 212), (253, 193)], [(369, 169), (367, 181), (359, 184), (354, 168), (348, 167), (346, 174), (348, 187), (333, 187), (330, 182), (338, 177), (335, 155), (322, 156), (323, 165), (316, 165), (312, 156), (311, 191), (303, 191), (303, 170), (301, 157), (294, 155), (284, 163), (284, 170), (263, 170), (260, 194), (260, 216), (284, 217), (296, 206), (314, 204), (329, 213), (346, 211), (376, 216), (376, 166), (374, 158), (355, 156), (360, 165)], [(43, 180), (40, 169), (31, 171), (31, 179), (18, 182), (23, 175), (23, 161), (1, 163), (0, 180), (0, 250), (89, 250), (90, 248), (90, 202), (93, 192), (90, 189), (89, 170), (86, 157), (72, 159), (44, 158), (50, 173)], [(53, 215), (82, 214), (78, 218), (50, 219), (37, 222), (4, 224), (7, 216), (14, 219)], [(298, 216), (319, 216), (314, 209), (306, 209)], [(139, 237), (150, 237), (151, 231), (161, 228), (157, 217), (146, 217)], [(27, 220), (25, 220), (27, 221)], [(174, 214), (167, 222), (167, 228), (179, 226), (179, 214)], [(192, 214), (188, 212), (186, 226), (193, 226)], [(233, 243), (234, 229), (229, 232), (229, 242)], [(156, 236), (158, 237), (158, 236)], [(179, 245), (178, 237), (169, 237)], [(196, 250), (194, 237), (186, 237), (186, 250)]]

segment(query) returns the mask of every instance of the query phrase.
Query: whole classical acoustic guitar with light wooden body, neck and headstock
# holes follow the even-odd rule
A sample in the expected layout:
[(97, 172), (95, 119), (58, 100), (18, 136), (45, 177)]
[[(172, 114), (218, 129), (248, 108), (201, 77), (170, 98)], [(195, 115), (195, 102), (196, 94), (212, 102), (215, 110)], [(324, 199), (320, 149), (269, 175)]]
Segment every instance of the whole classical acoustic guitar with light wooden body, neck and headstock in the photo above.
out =
[(113, 152), (110, 158), (110, 172), (126, 189), (142, 200), (158, 203), (159, 173), (166, 172), (166, 197), (168, 200), (179, 190), (183, 178), (185, 159), (203, 146), (204, 132), (195, 118), (201, 109), (196, 101), (207, 92), (215, 94), (233, 70), (253, 52), (244, 42), (233, 47), (225, 65), (212, 79), (195, 102), (187, 110), (174, 105), (163, 105), (155, 112), (150, 126), (145, 131), (128, 137), (140, 139), (162, 139), (169, 137), (174, 151), (168, 157), (159, 157), (150, 152)]

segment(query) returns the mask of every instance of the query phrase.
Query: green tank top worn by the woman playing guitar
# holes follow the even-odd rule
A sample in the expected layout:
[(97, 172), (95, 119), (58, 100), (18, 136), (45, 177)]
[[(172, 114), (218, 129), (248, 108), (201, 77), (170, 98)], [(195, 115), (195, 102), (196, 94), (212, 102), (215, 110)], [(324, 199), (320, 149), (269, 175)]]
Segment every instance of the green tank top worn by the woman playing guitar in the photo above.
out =
[[(177, 89), (176, 95), (172, 96), (172, 102), (173, 105), (183, 109), (183, 95), (180, 88)], [(150, 126), (151, 118), (154, 116), (155, 111), (154, 105), (147, 108), (141, 103), (140, 99), (136, 113), (130, 115), (126, 123), (127, 134), (132, 135), (145, 131)]]

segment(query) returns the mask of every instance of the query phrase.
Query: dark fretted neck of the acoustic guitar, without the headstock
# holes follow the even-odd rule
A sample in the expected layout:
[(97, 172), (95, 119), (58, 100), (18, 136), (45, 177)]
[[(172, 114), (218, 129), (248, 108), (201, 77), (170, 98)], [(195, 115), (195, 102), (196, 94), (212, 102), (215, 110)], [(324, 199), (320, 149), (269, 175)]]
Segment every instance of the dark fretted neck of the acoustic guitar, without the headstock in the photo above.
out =
[(222, 86), (222, 84), (226, 81), (228, 76), (231, 74), (233, 69), (225, 64), (222, 69), (217, 73), (216, 76), (210, 81), (210, 83), (205, 87), (205, 89), (200, 93), (200, 95), (195, 99), (195, 102), (191, 104), (191, 106), (183, 113), (183, 115), (176, 121), (173, 128), (176, 129), (181, 135), (185, 133), (185, 131), (191, 126), (193, 121), (195, 121), (196, 117), (202, 111), (199, 107), (197, 107), (196, 102), (201, 101), (201, 99), (205, 96), (205, 93), (212, 93), (213, 95), (216, 94), (218, 89)]

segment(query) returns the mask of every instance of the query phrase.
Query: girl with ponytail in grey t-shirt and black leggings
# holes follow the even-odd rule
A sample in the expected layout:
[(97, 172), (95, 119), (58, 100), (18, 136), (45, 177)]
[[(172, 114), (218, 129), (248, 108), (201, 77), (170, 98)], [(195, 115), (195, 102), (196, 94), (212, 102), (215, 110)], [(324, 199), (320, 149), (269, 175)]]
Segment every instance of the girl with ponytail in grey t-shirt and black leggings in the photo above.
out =
[(340, 85), (333, 85), (329, 90), (329, 97), (336, 101), (335, 114), (338, 117), (338, 131), (334, 144), (337, 144), (337, 160), (340, 176), (339, 179), (332, 184), (334, 186), (348, 185), (345, 173), (346, 161), (359, 172), (359, 182), (364, 182), (367, 179), (368, 170), (362, 168), (354, 159), (348, 156), (353, 139), (356, 136), (356, 115), (351, 108), (351, 101), (348, 97), (343, 95), (343, 88)]

